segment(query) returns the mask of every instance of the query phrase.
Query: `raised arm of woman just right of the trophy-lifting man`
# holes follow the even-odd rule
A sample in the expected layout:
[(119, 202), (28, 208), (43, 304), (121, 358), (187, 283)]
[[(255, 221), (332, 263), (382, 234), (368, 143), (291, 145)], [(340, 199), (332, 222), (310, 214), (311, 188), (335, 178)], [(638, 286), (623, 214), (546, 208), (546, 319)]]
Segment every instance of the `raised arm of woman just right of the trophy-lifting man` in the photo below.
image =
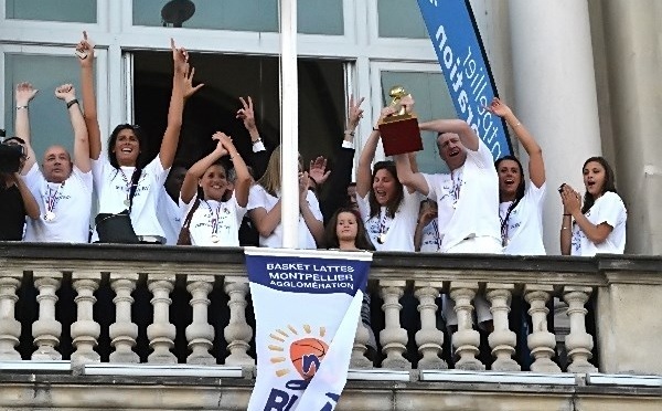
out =
[(517, 140), (520, 140), (528, 155), (528, 176), (531, 181), (535, 187), (542, 187), (545, 183), (545, 162), (543, 161), (543, 149), (541, 146), (526, 127), (515, 117), (512, 109), (499, 98), (494, 97), (487, 109), (505, 119), (505, 123), (511, 126), (515, 133), (515, 137), (517, 137)]

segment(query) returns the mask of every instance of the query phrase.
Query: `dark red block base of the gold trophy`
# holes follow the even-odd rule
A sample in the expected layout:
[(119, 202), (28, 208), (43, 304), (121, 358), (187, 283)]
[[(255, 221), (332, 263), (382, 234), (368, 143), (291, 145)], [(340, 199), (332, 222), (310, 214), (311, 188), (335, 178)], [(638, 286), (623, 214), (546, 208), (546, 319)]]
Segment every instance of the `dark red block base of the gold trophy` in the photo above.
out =
[(418, 119), (412, 115), (393, 117), (395, 118), (386, 117), (387, 119), (380, 124), (384, 154), (395, 156), (423, 150)]

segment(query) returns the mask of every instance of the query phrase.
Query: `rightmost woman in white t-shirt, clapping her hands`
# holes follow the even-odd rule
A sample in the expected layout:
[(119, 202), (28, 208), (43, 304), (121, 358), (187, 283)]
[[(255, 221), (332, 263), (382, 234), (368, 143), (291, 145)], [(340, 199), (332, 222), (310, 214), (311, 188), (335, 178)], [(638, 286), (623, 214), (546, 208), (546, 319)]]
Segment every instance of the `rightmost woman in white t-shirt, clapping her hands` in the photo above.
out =
[(589, 158), (581, 170), (586, 188), (584, 204), (570, 186), (558, 189), (563, 201), (560, 252), (581, 256), (622, 254), (628, 212), (616, 191), (613, 170), (602, 157)]

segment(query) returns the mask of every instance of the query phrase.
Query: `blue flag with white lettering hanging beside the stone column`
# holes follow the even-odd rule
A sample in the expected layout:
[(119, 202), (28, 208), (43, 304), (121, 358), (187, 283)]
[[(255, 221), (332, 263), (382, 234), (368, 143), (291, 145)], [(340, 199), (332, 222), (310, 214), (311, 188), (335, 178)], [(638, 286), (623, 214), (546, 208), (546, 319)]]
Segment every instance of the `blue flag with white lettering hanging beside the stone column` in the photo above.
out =
[(458, 118), (490, 148), (494, 160), (510, 155), (505, 123), (484, 107), (498, 96), (469, 0), (418, 0)]

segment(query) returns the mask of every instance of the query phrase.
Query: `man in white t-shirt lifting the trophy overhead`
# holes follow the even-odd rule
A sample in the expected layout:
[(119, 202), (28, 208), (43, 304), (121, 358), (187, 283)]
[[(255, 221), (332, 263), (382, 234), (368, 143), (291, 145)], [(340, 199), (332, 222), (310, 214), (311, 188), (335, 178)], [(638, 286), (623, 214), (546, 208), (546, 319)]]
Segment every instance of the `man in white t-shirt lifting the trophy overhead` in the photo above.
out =
[[(399, 155), (395, 156), (397, 176), (403, 185), (437, 201), (440, 251), (501, 254), (499, 176), (489, 148), (460, 119), (438, 119), (419, 127), (438, 134), (439, 156), (450, 173), (413, 172), (408, 157)], [(480, 323), (492, 318), (484, 298), (477, 297), (474, 305)], [(457, 324), (453, 310), (445, 309), (445, 314), (450, 325)]]

